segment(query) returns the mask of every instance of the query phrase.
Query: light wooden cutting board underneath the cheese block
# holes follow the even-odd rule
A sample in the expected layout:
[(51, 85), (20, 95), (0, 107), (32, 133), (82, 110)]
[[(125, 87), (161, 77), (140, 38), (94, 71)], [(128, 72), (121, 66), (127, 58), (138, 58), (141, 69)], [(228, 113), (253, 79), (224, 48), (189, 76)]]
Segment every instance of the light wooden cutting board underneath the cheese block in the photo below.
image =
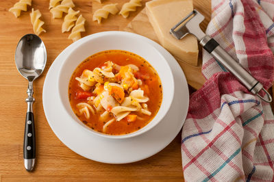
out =
[[(211, 4), (210, 1), (194, 1), (194, 8), (197, 9), (201, 14), (205, 16), (205, 20), (201, 23), (201, 29), (206, 31), (206, 27), (210, 21), (211, 15)], [(145, 8), (125, 27), (125, 31), (134, 32), (136, 34), (140, 34), (155, 42), (158, 42), (158, 38), (153, 30), (153, 27), (149, 23), (149, 18), (147, 17), (147, 13)], [(192, 88), (199, 89), (203, 86), (206, 79), (201, 74), (201, 47), (199, 47), (199, 58), (198, 58), (198, 66), (192, 66), (179, 58), (175, 57), (181, 68), (184, 70), (184, 74), (186, 75), (186, 79), (188, 84), (192, 86)]]

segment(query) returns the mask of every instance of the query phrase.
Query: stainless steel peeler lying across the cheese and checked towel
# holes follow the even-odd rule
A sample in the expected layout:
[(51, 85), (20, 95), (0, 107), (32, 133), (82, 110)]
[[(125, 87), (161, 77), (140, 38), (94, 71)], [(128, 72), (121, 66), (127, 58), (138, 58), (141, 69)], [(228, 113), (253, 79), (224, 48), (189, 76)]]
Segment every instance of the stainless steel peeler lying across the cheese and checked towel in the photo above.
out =
[[(245, 68), (242, 68), (238, 62), (220, 47), (216, 40), (203, 33), (199, 24), (204, 18), (205, 17), (200, 12), (193, 10), (188, 16), (182, 19), (182, 21), (177, 23), (177, 25), (170, 30), (170, 33), (178, 40), (184, 38), (187, 34), (196, 36), (203, 49), (208, 51), (215, 60), (229, 70), (229, 72), (231, 72), (249, 90), (249, 92), (256, 94), (263, 101), (271, 103), (272, 97), (269, 92), (264, 89), (262, 83), (256, 80), (247, 70), (245, 70)], [(267, 100), (259, 94), (261, 90), (266, 93), (268, 97)]]

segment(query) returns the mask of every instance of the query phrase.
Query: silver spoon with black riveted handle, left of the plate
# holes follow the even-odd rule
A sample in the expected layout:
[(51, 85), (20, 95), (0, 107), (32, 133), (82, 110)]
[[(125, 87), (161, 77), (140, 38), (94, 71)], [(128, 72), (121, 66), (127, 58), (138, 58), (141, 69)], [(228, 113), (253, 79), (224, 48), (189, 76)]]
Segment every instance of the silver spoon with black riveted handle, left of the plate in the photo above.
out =
[(31, 171), (35, 164), (35, 129), (32, 104), (35, 99), (32, 97), (33, 82), (42, 74), (47, 63), (47, 51), (42, 40), (34, 35), (27, 34), (18, 42), (15, 51), (15, 63), (19, 73), (29, 81), (27, 88), (27, 115), (25, 120), (24, 137), (24, 162), (27, 171)]

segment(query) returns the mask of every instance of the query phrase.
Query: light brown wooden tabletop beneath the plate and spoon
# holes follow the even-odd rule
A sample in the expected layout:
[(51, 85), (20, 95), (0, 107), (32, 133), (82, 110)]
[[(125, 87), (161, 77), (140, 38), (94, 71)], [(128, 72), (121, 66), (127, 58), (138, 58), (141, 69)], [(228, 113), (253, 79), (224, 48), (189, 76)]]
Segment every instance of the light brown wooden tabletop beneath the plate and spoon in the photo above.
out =
[[(62, 19), (53, 19), (48, 10), (49, 1), (33, 0), (32, 7), (40, 10), (47, 33), (40, 38), (47, 47), (47, 66), (44, 73), (34, 82), (34, 119), (36, 125), (36, 168), (27, 172), (23, 164), (23, 135), (27, 104), (27, 80), (16, 70), (14, 51), (18, 40), (25, 34), (33, 33), (29, 10), (19, 18), (8, 12), (17, 0), (0, 1), (0, 181), (183, 181), (180, 151), (180, 133), (160, 153), (132, 164), (101, 164), (81, 157), (71, 151), (55, 136), (42, 108), (42, 86), (47, 70), (62, 50), (72, 43), (62, 34)], [(101, 25), (92, 22), (92, 13), (102, 5), (92, 0), (73, 0), (86, 18), (86, 32), (82, 36), (99, 31), (123, 30), (142, 8), (125, 19), (112, 16)], [(105, 0), (119, 3), (119, 8), (128, 0)], [(195, 8), (207, 8), (210, 16), (210, 0), (193, 0)], [(57, 92), (53, 90), (52, 92)]]

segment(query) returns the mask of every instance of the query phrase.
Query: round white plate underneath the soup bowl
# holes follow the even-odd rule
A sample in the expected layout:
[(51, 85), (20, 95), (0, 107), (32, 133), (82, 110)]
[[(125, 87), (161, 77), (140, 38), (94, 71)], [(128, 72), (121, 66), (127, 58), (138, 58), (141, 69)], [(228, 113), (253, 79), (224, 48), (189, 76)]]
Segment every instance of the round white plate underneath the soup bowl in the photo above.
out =
[(83, 157), (109, 164), (125, 164), (140, 161), (161, 151), (175, 138), (182, 128), (188, 112), (189, 102), (186, 77), (174, 57), (159, 44), (143, 36), (123, 32), (123, 34), (131, 34), (131, 36), (153, 45), (169, 62), (175, 81), (175, 93), (171, 108), (162, 121), (153, 129), (132, 138), (114, 140), (88, 132), (71, 119), (62, 107), (60, 96), (57, 92), (57, 77), (62, 60), (65, 60), (69, 52), (77, 47), (77, 44), (102, 34), (121, 34), (121, 32), (105, 31), (86, 36), (71, 44), (55, 59), (51, 68), (49, 68), (43, 88), (42, 101), (45, 115), (55, 135), (72, 151)]

